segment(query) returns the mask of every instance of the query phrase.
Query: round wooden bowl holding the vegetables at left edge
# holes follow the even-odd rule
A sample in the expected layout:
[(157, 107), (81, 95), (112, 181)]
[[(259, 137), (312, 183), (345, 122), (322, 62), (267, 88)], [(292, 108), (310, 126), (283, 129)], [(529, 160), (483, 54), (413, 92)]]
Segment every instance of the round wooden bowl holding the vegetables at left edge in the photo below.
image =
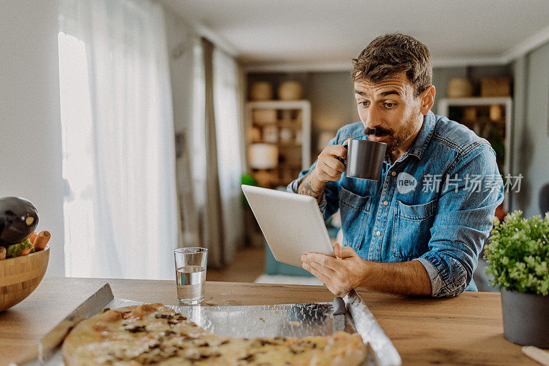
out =
[(0, 311), (19, 304), (42, 281), (49, 261), (49, 245), (43, 251), (0, 260)]

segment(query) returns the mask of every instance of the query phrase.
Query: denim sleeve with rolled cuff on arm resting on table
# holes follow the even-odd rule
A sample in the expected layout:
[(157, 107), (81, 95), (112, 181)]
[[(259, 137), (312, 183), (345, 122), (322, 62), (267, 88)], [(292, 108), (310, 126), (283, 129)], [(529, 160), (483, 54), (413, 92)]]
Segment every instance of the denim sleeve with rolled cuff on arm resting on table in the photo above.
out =
[[(429, 251), (415, 259), (429, 275), (433, 297), (459, 295), (471, 284), (490, 219), (503, 201), (503, 181), (487, 144), (472, 149), (448, 175), (459, 183), (441, 190)], [(482, 177), (480, 189), (469, 184), (471, 176)]]

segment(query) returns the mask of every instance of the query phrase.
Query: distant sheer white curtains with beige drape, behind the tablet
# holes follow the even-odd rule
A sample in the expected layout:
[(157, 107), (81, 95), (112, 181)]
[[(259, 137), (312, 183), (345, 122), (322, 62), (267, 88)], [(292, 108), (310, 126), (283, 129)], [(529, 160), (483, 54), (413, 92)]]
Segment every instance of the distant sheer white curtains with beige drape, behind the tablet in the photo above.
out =
[[(240, 71), (233, 57), (214, 47), (211, 55), (213, 82), (209, 85), (206, 81), (208, 67), (205, 65), (205, 45), (209, 45), (209, 42), (196, 39), (193, 48), (193, 120), (189, 127), (192, 136), (192, 176), (194, 201), (200, 216), (201, 242), (209, 249), (209, 264), (222, 266), (231, 262), (235, 249), (244, 238), (240, 190), (244, 161)], [(206, 98), (208, 87), (213, 89), (214, 133), (207, 131), (210, 127), (206, 117), (210, 107)], [(215, 141), (208, 141), (207, 136), (211, 135), (215, 135)], [(215, 144), (217, 159), (207, 157), (207, 144)], [(213, 163), (217, 166), (212, 167)], [(212, 176), (205, 174), (212, 170), (217, 170), (219, 192), (208, 192), (207, 189), (209, 187), (211, 191), (212, 186), (215, 186), (208, 184)], [(216, 211), (211, 207), (215, 207)], [(211, 225), (220, 225), (220, 230), (214, 232)]]

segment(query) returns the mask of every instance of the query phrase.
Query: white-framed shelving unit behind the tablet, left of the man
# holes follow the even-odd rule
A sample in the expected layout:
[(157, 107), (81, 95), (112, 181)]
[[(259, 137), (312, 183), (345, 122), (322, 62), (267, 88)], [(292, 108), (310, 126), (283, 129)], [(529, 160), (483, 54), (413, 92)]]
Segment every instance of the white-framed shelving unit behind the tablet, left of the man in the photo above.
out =
[[(259, 121), (254, 111), (269, 110), (272, 120)], [(273, 112), (274, 111), (274, 112)], [(277, 163), (269, 169), (248, 171), (260, 185), (288, 185), (311, 164), (311, 104), (308, 100), (267, 100), (246, 103), (246, 147), (269, 144), (277, 149)], [(246, 149), (248, 151), (248, 149)]]

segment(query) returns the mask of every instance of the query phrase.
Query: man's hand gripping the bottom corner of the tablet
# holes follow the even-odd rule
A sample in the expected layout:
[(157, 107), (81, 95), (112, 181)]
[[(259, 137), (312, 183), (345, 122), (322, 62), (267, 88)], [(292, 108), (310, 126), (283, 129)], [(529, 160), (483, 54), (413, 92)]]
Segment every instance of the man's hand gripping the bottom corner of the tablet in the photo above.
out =
[(303, 268), (324, 282), (331, 293), (344, 296), (353, 288), (362, 284), (366, 270), (366, 261), (350, 247), (342, 247), (336, 242), (334, 254), (309, 253), (301, 255)]

